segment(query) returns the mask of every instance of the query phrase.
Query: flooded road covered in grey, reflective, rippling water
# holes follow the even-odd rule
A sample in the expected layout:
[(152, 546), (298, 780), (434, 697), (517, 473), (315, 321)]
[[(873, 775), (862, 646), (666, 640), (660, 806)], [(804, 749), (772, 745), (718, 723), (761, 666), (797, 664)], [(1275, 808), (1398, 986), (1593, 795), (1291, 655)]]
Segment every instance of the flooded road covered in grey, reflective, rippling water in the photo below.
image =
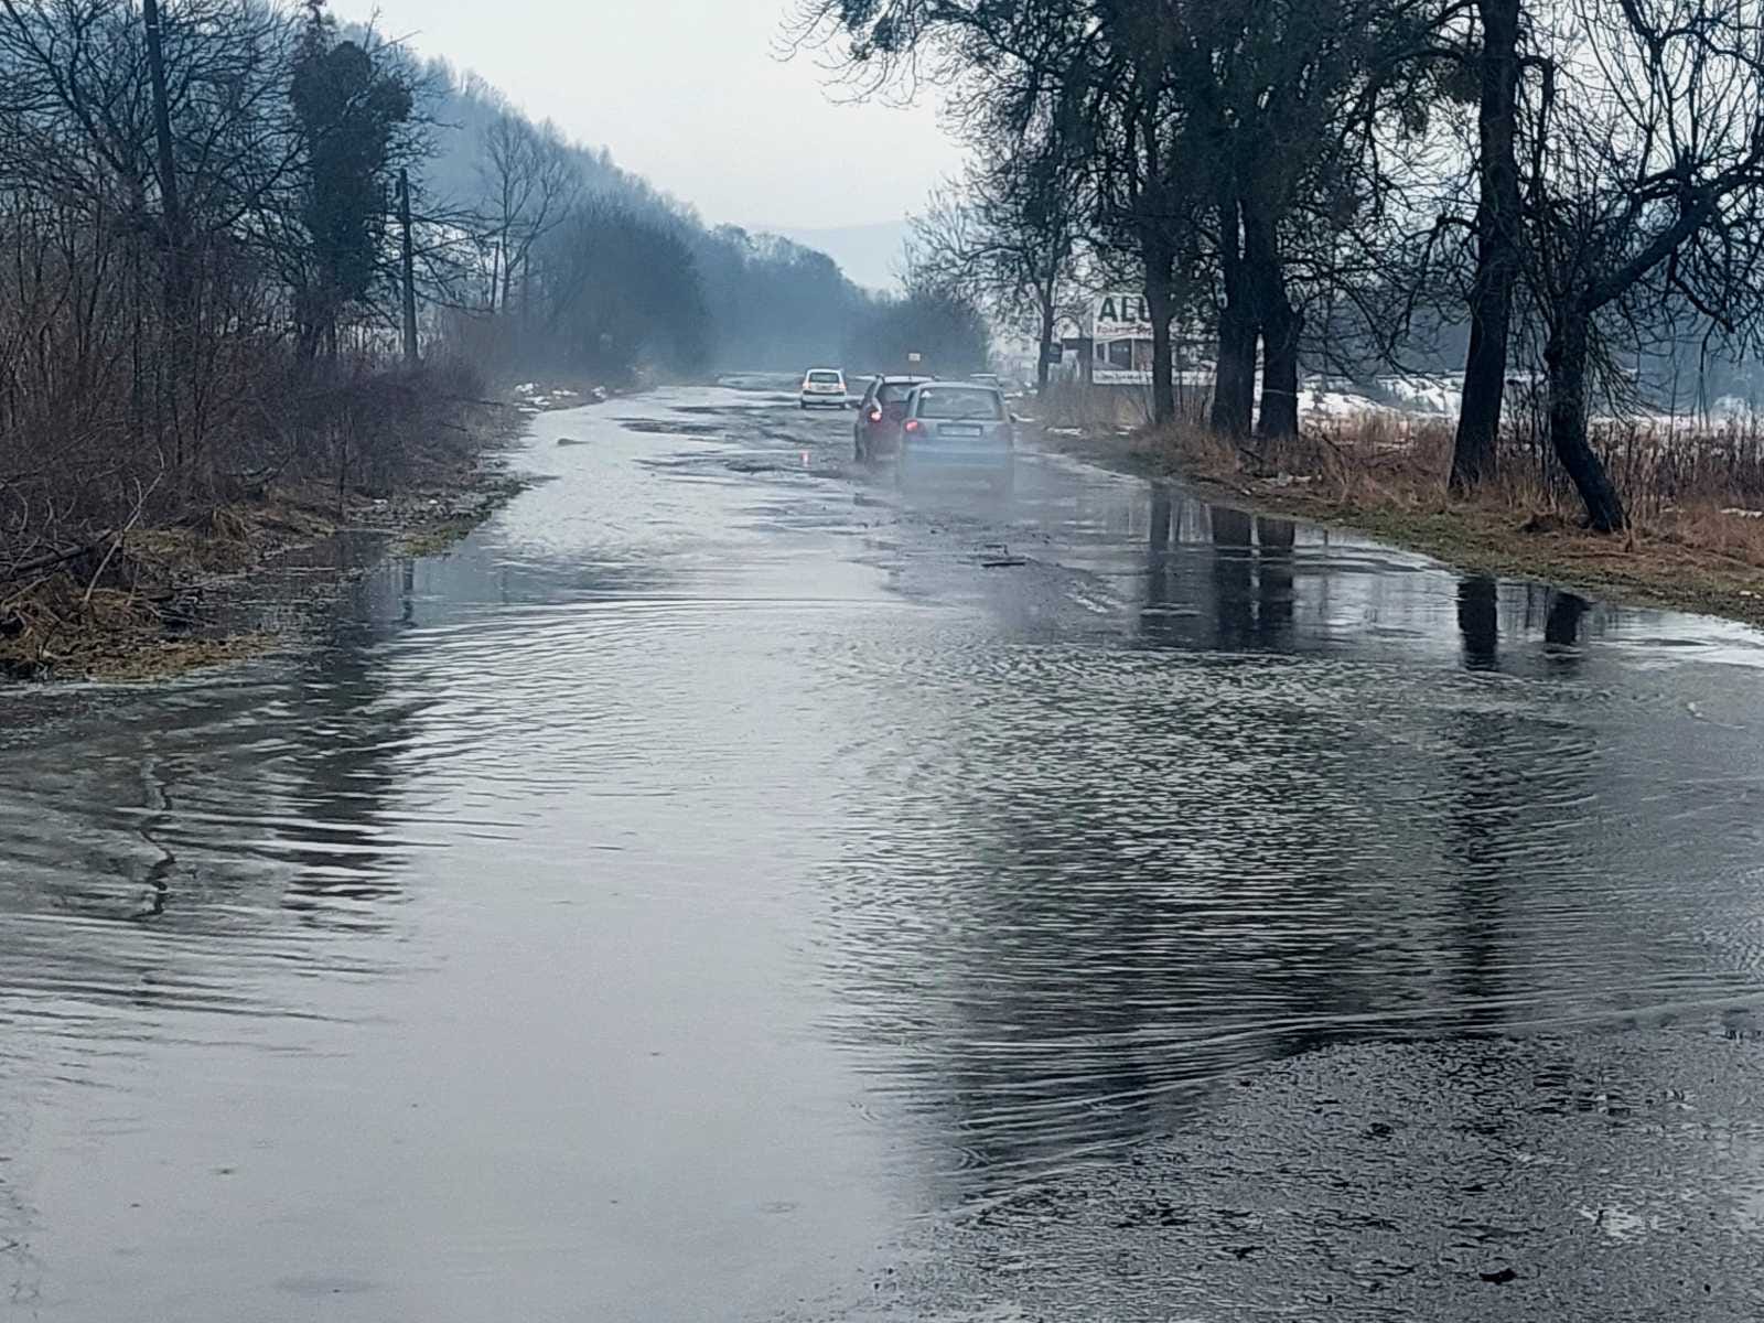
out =
[(1759, 635), (848, 427), (5, 700), (0, 1311), (1764, 1311)]

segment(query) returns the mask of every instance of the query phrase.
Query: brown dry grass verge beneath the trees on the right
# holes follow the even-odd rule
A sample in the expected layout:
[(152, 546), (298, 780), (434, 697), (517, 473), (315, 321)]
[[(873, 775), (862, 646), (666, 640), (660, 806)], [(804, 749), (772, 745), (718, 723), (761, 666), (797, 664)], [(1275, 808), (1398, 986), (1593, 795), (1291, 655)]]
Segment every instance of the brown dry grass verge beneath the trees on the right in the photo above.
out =
[(1623, 536), (1584, 531), (1554, 459), (1519, 434), (1505, 439), (1499, 482), (1473, 499), (1452, 499), (1445, 420), (1376, 416), (1242, 445), (1180, 425), (1074, 448), (1464, 568), (1764, 624), (1764, 519), (1734, 513), (1764, 505), (1759, 437), (1734, 429), (1662, 439), (1612, 425), (1596, 445), (1632, 512)]

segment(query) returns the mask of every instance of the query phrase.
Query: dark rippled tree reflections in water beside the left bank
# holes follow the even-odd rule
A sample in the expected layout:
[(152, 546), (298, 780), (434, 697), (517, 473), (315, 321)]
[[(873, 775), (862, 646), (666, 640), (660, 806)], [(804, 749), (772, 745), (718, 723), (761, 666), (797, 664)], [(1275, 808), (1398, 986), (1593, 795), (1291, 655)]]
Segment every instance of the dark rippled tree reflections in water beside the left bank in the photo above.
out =
[[(28, 877), (0, 907), (222, 933), (284, 905), (318, 919), (326, 896), (395, 894), (386, 804), (415, 704), (390, 700), (370, 649), (397, 573), (362, 579), (286, 676), (157, 690), (9, 759), (0, 776), (55, 794), (7, 827)], [(58, 958), (53, 944), (39, 954)], [(102, 960), (92, 944), (64, 954)]]

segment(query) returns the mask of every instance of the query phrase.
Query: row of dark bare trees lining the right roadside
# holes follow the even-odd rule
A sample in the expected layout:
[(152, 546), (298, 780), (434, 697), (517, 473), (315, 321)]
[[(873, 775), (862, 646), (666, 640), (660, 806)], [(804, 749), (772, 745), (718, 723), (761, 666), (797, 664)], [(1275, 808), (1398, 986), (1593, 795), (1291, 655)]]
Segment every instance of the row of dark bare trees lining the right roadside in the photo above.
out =
[(923, 261), (1043, 342), (1076, 288), (1143, 282), (1159, 420), (1173, 326), (1217, 346), (1210, 425), (1281, 436), (1302, 360), (1401, 365), (1468, 321), (1454, 489), (1498, 476), (1536, 374), (1609, 531), (1588, 420), (1623, 363), (1760, 325), (1764, 0), (803, 0), (796, 37), (967, 134)]

